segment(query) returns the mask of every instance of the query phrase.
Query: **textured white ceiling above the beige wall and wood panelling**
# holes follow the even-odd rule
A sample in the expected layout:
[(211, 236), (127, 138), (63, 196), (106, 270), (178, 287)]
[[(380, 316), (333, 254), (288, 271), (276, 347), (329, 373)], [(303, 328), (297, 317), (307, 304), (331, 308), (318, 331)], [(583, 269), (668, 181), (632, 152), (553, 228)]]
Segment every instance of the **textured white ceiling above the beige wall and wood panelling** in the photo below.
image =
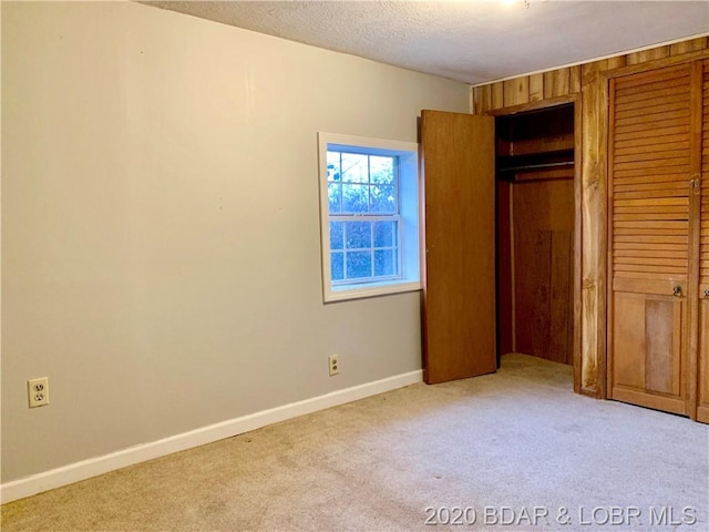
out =
[(709, 33), (709, 0), (142, 3), (473, 84)]

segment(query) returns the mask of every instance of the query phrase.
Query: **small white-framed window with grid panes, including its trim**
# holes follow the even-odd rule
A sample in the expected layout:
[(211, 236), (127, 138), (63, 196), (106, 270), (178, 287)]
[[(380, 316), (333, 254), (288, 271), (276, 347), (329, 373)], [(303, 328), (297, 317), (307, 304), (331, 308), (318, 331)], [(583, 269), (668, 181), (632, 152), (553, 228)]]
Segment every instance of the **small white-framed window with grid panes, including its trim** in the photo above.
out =
[(318, 140), (325, 300), (420, 289), (418, 144)]

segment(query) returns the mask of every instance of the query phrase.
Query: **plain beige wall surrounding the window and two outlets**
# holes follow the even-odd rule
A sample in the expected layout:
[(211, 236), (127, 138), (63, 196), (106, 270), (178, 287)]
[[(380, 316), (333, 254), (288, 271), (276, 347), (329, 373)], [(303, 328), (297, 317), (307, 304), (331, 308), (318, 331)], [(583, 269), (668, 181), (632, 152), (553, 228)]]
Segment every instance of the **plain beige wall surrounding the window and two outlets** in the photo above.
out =
[(469, 101), (142, 4), (2, 2), (2, 482), (420, 369), (418, 293), (322, 305), (316, 132), (415, 142)]

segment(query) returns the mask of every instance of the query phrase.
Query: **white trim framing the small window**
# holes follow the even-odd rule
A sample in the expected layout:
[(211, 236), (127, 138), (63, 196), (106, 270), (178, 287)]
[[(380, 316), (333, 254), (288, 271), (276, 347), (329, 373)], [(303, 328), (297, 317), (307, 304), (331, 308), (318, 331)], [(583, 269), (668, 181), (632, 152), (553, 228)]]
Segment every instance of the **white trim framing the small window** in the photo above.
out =
[[(394, 154), (401, 156), (418, 156), (419, 145), (415, 142), (391, 141), (386, 139), (369, 139), (362, 136), (342, 135), (338, 133), (318, 132), (318, 161), (319, 161), (319, 182), (320, 182), (320, 249), (322, 262), (322, 299), (325, 303), (343, 301), (348, 299), (358, 299), (364, 297), (382, 296), (388, 294), (401, 294), (404, 291), (414, 291), (422, 288), (420, 265), (414, 273), (405, 272), (405, 256), (402, 257), (402, 274), (403, 278), (390, 279), (372, 283), (352, 283), (345, 286), (333, 286), (331, 282), (330, 269), (330, 212), (328, 204), (328, 172), (327, 172), (327, 152), (328, 145), (336, 145), (337, 149), (356, 149), (367, 151), (367, 153), (376, 153), (377, 150), (382, 150), (382, 153), (391, 155)], [(418, 165), (413, 165), (413, 172), (415, 172), (417, 197), (421, 197), (421, 191), (419, 190)], [(401, 187), (401, 181), (399, 183)], [(401, 190), (400, 190), (401, 194)], [(417, 212), (419, 206), (417, 205)], [(420, 222), (420, 221), (419, 221)], [(420, 231), (420, 229), (419, 229)], [(420, 234), (418, 232), (418, 234)], [(419, 238), (417, 237), (402, 239), (401, 245), (407, 245), (409, 249), (404, 249), (405, 255), (414, 254), (419, 257)], [(411, 249), (411, 246), (415, 246), (415, 249)]]

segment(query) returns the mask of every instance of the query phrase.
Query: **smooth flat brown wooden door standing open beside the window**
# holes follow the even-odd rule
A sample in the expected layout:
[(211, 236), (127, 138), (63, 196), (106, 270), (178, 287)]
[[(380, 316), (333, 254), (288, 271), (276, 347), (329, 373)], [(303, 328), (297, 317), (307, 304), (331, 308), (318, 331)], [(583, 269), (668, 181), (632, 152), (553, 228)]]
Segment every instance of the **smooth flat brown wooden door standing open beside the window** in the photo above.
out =
[(494, 120), (422, 111), (423, 376), (496, 370)]

